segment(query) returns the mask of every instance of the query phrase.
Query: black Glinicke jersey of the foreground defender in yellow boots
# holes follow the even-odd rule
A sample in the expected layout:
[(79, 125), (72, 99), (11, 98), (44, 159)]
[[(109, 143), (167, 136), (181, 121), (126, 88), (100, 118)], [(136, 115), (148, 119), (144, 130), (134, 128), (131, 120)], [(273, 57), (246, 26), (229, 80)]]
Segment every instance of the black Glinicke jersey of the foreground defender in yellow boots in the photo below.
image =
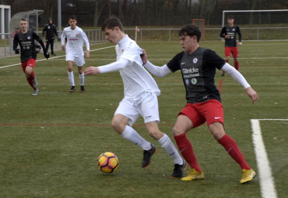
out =
[(216, 69), (226, 62), (210, 49), (197, 48), (192, 54), (182, 51), (166, 65), (172, 72), (181, 70), (189, 103), (215, 99), (221, 102), (220, 93), (214, 84)]

